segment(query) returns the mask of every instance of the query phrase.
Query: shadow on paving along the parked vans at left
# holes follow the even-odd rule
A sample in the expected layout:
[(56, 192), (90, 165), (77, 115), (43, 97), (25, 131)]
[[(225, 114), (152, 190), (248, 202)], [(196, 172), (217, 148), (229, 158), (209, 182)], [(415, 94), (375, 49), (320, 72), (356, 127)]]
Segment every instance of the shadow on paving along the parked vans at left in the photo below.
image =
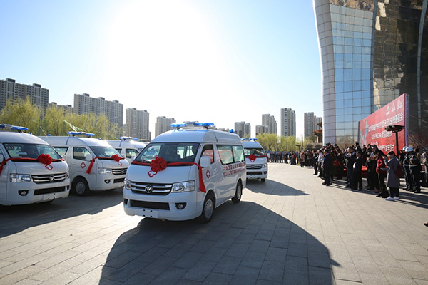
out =
[(0, 206), (0, 237), (81, 214), (96, 214), (121, 202), (122, 190), (117, 189), (93, 191), (85, 197), (71, 194), (66, 199), (55, 199), (49, 204)]

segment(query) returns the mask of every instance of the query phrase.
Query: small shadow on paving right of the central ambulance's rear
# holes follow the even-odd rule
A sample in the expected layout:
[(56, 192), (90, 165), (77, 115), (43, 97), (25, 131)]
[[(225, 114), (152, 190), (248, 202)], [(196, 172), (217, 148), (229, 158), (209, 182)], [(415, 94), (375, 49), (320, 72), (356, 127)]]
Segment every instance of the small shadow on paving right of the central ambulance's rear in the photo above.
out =
[(275, 180), (266, 179), (265, 182), (260, 180), (247, 180), (246, 188), (251, 192), (263, 193), (267, 195), (278, 195), (278, 196), (299, 196), (309, 195), (301, 190), (297, 190), (288, 185), (276, 182)]

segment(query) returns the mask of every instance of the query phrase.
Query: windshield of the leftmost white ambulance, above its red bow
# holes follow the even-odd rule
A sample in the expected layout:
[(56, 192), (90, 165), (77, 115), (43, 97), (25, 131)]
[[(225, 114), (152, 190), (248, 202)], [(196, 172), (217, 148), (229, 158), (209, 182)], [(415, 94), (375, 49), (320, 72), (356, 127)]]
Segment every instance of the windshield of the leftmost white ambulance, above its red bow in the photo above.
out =
[(50, 145), (37, 145), (33, 143), (4, 143), (4, 148), (11, 158), (34, 158), (39, 155), (50, 155), (53, 160), (61, 160), (61, 155)]

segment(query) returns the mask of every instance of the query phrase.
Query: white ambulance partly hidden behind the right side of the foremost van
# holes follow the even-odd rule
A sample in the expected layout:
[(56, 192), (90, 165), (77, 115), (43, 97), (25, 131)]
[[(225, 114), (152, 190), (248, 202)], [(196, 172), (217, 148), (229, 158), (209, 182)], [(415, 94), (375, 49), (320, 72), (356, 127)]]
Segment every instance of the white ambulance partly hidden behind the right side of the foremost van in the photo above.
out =
[(267, 155), (257, 138), (243, 138), (245, 162), (247, 162), (247, 179), (267, 178)]

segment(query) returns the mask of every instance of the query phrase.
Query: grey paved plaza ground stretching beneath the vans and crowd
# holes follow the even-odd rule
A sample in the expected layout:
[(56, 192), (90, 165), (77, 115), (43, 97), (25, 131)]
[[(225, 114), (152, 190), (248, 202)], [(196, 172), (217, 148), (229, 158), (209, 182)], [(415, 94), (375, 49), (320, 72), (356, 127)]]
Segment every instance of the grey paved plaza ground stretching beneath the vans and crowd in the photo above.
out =
[(128, 217), (121, 190), (0, 208), (0, 284), (428, 284), (428, 190), (387, 202), (270, 164), (209, 224)]

